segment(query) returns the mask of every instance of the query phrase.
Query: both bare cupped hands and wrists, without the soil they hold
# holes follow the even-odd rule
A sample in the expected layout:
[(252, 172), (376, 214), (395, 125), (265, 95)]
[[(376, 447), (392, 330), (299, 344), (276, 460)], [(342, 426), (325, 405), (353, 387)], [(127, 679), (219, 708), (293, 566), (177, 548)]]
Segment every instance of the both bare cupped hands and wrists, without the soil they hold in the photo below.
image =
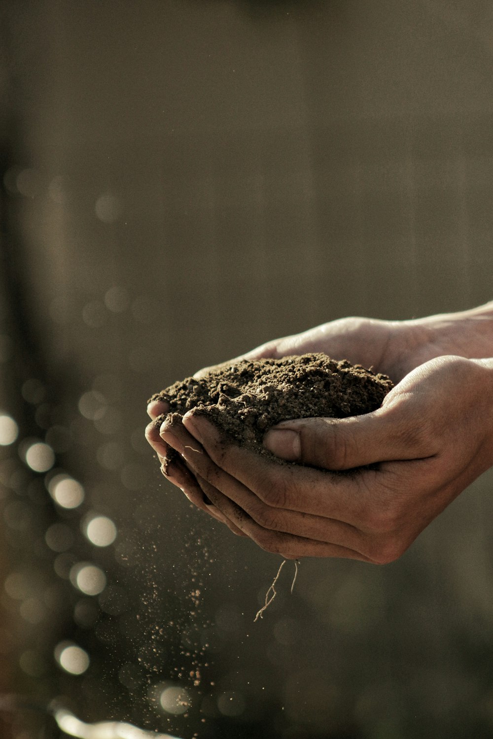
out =
[(226, 443), (191, 413), (149, 424), (147, 438), (161, 458), (167, 444), (180, 453), (167, 477), (193, 503), (265, 550), (391, 562), (493, 464), (492, 349), (493, 304), (413, 321), (332, 321), (245, 355), (322, 351), (397, 382), (372, 413), (285, 421), (265, 435), (273, 454), (303, 465)]

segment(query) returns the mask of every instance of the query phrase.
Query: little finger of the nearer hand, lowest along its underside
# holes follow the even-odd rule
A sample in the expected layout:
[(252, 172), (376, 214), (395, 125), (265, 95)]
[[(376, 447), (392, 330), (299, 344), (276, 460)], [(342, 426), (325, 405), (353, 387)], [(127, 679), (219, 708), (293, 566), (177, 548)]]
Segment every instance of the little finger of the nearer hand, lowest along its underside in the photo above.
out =
[(268, 531), (252, 520), (242, 508), (239, 508), (239, 505), (209, 485), (206, 480), (200, 480), (200, 484), (206, 494), (214, 501), (214, 505), (265, 551), (281, 554), (285, 559), (318, 556), (343, 557), (344, 559), (359, 559), (362, 562), (371, 562), (369, 557), (344, 546), (293, 536), (293, 534), (285, 534), (281, 531)]

